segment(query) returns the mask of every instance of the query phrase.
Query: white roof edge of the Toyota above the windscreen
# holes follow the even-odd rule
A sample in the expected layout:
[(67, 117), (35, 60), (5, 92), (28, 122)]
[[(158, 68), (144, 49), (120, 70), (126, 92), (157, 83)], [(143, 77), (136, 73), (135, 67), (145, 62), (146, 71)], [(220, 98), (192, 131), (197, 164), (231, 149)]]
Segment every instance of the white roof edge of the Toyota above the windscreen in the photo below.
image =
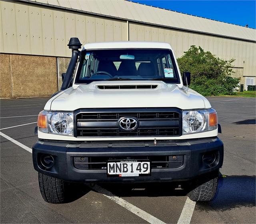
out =
[(88, 43), (84, 45), (85, 49), (116, 49), (116, 48), (162, 48), (172, 49), (170, 44), (163, 42), (145, 42), (145, 41), (117, 41)]

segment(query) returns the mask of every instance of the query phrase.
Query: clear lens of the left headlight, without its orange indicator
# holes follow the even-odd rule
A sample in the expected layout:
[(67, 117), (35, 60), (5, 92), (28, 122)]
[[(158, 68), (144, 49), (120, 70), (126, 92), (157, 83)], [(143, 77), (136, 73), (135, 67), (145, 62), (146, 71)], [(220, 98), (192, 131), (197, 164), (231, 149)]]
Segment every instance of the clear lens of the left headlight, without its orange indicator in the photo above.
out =
[(50, 130), (56, 134), (73, 134), (73, 113), (54, 112), (50, 118)]

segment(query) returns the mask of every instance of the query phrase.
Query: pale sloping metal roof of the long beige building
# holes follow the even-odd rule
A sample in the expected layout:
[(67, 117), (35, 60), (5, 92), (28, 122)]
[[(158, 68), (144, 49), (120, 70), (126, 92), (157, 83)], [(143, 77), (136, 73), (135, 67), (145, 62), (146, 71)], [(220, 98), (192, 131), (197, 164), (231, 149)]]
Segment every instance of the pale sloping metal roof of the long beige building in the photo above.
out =
[(23, 0), (46, 6), (165, 26), (190, 32), (256, 41), (256, 30), (126, 0)]

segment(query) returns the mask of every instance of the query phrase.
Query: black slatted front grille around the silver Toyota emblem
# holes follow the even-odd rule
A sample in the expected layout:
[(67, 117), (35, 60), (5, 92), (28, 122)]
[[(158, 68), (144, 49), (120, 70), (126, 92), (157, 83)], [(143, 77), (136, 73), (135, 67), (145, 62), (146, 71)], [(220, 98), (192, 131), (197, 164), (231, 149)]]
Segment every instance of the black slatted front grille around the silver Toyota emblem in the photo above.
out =
[[(138, 128), (131, 131), (119, 128), (118, 120), (123, 117), (138, 119)], [(76, 136), (179, 136), (179, 117), (178, 111), (80, 112), (76, 115)]]

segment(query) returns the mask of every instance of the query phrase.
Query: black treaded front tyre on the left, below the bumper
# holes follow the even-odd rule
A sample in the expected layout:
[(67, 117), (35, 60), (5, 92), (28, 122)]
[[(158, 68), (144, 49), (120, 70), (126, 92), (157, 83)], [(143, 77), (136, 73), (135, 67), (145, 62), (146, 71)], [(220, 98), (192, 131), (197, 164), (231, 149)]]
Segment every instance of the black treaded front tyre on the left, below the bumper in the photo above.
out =
[(38, 182), (42, 197), (46, 202), (60, 204), (66, 201), (66, 182), (38, 173)]

